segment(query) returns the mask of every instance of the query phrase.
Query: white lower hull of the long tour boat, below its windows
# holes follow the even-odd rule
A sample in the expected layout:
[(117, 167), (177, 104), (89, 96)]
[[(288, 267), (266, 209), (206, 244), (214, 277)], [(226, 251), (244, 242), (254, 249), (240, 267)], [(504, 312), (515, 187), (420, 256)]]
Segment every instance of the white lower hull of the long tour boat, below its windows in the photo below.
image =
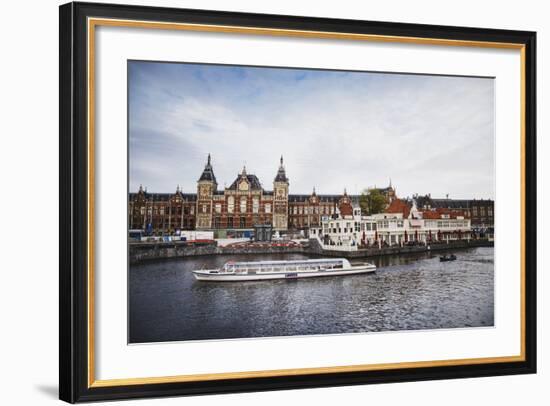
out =
[(364, 264), (352, 266), (346, 269), (327, 269), (317, 271), (286, 271), (286, 272), (258, 272), (258, 273), (212, 273), (211, 271), (193, 271), (195, 278), (200, 281), (211, 282), (239, 282), (239, 281), (259, 281), (270, 279), (301, 279), (316, 278), (324, 276), (344, 276), (357, 275), (363, 273), (375, 272), (376, 266)]

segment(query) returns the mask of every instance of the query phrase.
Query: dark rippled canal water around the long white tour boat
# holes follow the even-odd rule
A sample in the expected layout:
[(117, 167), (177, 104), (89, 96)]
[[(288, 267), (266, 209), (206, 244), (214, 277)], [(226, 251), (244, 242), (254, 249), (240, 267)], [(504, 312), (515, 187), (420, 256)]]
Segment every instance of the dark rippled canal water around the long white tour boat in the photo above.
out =
[[(229, 260), (194, 257), (132, 265), (129, 342), (342, 334), (492, 326), (493, 248), (368, 258), (375, 274), (301, 280), (200, 282), (191, 270)], [(354, 261), (351, 261), (352, 263)]]

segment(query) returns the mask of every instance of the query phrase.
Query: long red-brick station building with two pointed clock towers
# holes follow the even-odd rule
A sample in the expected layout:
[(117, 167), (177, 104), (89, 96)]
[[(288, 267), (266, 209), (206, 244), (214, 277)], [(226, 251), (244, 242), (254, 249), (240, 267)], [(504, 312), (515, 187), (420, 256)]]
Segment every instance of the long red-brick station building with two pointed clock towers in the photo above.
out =
[[(254, 174), (243, 168), (229, 187), (218, 189), (210, 155), (197, 180), (196, 193), (148, 193), (140, 187), (129, 195), (130, 229), (155, 233), (175, 230), (252, 230), (269, 224), (275, 231), (308, 230), (318, 226), (322, 216), (337, 213), (342, 203), (351, 205), (359, 196), (289, 194), (289, 179), (283, 157), (272, 190), (263, 188)], [(350, 206), (351, 207), (351, 206)]]

